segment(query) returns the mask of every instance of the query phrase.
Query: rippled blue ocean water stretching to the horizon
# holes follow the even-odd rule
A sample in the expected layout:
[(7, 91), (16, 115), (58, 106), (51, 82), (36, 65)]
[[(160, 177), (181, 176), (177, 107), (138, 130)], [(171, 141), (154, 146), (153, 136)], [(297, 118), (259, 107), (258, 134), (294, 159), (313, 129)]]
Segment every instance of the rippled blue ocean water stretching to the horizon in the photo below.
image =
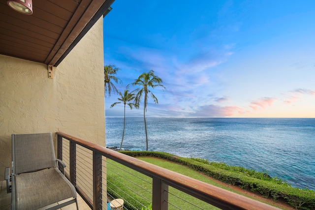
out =
[[(149, 150), (268, 172), (315, 190), (315, 119), (146, 118)], [(106, 118), (106, 146), (120, 147), (124, 118)], [(126, 118), (123, 149), (145, 150), (143, 118)]]

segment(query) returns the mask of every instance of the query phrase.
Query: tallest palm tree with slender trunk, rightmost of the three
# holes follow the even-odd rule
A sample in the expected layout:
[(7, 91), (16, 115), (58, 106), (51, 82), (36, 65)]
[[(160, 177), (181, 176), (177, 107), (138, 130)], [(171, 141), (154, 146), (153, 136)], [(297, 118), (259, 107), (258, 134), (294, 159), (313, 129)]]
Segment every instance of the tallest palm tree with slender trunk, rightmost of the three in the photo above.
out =
[[(148, 151), (148, 132), (147, 132), (147, 122), (146, 122), (146, 111), (148, 105), (148, 93), (150, 92), (150, 96), (153, 98), (154, 103), (158, 103), (158, 98), (153, 94), (149, 88), (155, 89), (156, 87), (161, 87), (163, 90), (165, 87), (161, 85), (162, 79), (154, 74), (153, 70), (150, 70), (148, 73), (142, 73), (138, 79), (134, 80), (130, 85), (132, 86), (141, 86), (136, 90), (133, 90), (136, 93), (136, 103), (139, 105), (141, 102), (142, 95), (144, 94), (144, 108), (143, 108), (143, 118), (144, 118), (144, 127), (146, 131), (146, 149)], [(129, 85), (128, 85), (129, 86)], [(128, 87), (127, 86), (127, 87)]]

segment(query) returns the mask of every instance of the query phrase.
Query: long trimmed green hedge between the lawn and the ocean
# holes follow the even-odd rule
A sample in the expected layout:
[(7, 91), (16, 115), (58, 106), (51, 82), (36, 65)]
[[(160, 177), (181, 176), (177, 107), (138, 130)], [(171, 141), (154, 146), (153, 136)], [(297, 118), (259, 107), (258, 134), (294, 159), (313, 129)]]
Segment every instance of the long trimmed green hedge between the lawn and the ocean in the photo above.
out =
[(158, 151), (120, 151), (129, 156), (152, 156), (170, 160), (186, 165), (216, 180), (228, 184), (238, 185), (243, 189), (260, 193), (263, 197), (272, 198), (274, 201), (283, 200), (296, 209), (315, 210), (315, 191), (299, 189), (290, 184), (271, 178), (264, 172), (256, 172), (238, 166), (224, 163), (209, 162), (200, 158), (179, 157), (166, 152)]

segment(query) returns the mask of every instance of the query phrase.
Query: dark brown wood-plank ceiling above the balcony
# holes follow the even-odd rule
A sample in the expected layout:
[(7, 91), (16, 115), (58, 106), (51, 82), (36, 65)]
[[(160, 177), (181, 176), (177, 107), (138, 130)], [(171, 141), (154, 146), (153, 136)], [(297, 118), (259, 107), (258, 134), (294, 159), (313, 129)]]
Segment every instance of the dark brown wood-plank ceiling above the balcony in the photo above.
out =
[(0, 54), (57, 66), (114, 0), (32, 0), (25, 15), (0, 0)]

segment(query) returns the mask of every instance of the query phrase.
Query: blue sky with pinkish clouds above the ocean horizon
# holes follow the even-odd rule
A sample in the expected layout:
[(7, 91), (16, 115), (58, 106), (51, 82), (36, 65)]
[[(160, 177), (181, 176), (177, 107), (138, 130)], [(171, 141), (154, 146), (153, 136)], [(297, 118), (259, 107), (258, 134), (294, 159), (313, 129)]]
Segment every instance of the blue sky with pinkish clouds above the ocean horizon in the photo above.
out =
[[(314, 0), (116, 0), (104, 18), (104, 64), (120, 91), (151, 69), (147, 117), (315, 118)], [(135, 87), (129, 87), (134, 90)], [(123, 117), (118, 94), (106, 117)], [(142, 117), (126, 108), (127, 117)]]

